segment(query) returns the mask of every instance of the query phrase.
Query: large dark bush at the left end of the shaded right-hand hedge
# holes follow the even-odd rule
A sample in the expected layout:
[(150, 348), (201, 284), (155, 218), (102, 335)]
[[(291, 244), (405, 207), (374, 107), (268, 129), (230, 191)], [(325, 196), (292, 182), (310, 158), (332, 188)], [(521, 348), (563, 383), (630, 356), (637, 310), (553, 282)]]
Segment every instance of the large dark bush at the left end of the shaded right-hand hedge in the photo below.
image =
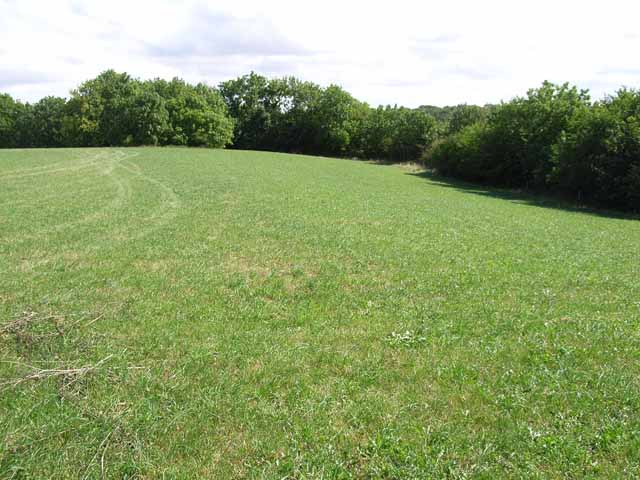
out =
[[(450, 129), (462, 126), (433, 150), (427, 162), (446, 175), (486, 183), (541, 188), (553, 169), (554, 145), (589, 97), (567, 84), (545, 82), (526, 97), (492, 110), (486, 122), (481, 110), (460, 109)], [(456, 118), (455, 115), (453, 117)]]

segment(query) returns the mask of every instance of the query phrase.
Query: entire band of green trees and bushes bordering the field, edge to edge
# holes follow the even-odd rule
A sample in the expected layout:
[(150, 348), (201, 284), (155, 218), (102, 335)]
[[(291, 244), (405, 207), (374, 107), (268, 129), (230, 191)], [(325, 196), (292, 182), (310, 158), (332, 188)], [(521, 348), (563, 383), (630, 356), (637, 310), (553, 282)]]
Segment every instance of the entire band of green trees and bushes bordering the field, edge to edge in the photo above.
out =
[(217, 87), (108, 70), (68, 99), (0, 94), (0, 148), (186, 145), (421, 161), (476, 182), (640, 210), (640, 91), (545, 82), (499, 105), (371, 107), (337, 85), (250, 73)]

